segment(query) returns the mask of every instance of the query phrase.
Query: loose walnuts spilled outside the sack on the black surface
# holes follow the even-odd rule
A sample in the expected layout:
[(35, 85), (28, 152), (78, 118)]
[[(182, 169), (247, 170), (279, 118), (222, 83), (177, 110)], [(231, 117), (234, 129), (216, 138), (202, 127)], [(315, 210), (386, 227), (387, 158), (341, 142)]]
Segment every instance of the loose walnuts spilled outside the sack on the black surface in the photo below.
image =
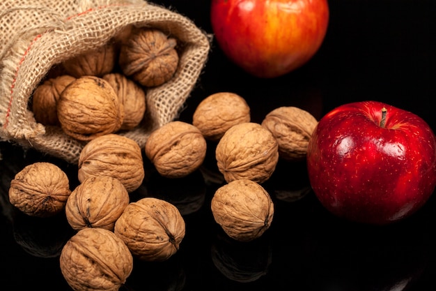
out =
[[(105, 84), (96, 77), (80, 80), (65, 90)], [(142, 150), (162, 177), (177, 179), (198, 170), (206, 141), (215, 142), (218, 170), (225, 181), (210, 204), (216, 223), (228, 237), (244, 242), (270, 227), (274, 204), (261, 184), (270, 179), (280, 157), (304, 159), (318, 121), (297, 107), (272, 110), (261, 124), (250, 119), (241, 96), (212, 94), (198, 104), (192, 124), (171, 121), (151, 133), (144, 149), (114, 133), (93, 137), (79, 156), (80, 184), (72, 191), (56, 165), (28, 165), (10, 183), (10, 202), (30, 216), (65, 210), (68, 223), (77, 230), (60, 256), (65, 280), (74, 290), (118, 290), (130, 276), (132, 258), (167, 260), (185, 237), (185, 221), (175, 205), (155, 197), (130, 202), (130, 193), (145, 175)]]

